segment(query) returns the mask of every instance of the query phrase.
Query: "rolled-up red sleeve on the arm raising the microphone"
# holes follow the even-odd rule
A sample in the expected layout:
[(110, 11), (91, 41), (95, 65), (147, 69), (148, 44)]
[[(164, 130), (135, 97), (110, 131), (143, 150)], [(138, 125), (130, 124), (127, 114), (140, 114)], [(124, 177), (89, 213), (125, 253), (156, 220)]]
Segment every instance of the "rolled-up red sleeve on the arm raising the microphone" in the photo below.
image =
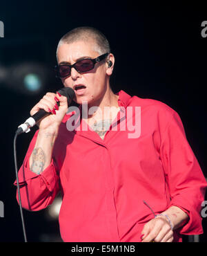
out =
[[(26, 210), (42, 210), (52, 203), (59, 192), (59, 176), (55, 161), (52, 161), (41, 174), (30, 170), (29, 160), (37, 140), (38, 131), (34, 134), (23, 164), (18, 172), (21, 205)], [(14, 182), (17, 185), (17, 180)], [(19, 197), (17, 192), (17, 201)]]

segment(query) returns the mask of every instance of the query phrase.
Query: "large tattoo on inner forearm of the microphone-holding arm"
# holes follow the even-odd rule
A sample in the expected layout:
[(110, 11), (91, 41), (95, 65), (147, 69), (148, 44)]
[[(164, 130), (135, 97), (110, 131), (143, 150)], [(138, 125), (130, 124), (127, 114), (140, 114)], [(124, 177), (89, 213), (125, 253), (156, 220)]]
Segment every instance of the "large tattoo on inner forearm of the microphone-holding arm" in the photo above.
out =
[(41, 147), (37, 147), (32, 152), (32, 166), (30, 170), (35, 174), (41, 174), (46, 163), (46, 154)]

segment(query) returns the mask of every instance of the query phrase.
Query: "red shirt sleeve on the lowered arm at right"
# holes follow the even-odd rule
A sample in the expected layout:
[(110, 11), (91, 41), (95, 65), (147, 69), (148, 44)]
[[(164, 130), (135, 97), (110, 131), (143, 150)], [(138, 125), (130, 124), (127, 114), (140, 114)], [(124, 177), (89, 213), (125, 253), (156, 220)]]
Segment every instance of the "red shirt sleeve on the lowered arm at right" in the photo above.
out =
[(203, 233), (200, 211), (207, 183), (176, 111), (172, 112), (166, 130), (161, 136), (160, 153), (170, 191), (171, 201), (168, 208), (175, 205), (189, 216), (189, 221), (179, 228), (179, 233), (181, 235)]

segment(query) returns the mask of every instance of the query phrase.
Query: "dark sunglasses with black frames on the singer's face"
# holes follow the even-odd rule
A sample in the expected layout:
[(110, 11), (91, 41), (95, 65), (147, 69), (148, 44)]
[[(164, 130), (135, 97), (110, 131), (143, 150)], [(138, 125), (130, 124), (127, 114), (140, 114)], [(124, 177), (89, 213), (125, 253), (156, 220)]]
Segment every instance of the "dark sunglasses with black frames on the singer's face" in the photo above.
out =
[(96, 57), (95, 59), (79, 60), (72, 65), (63, 64), (55, 66), (56, 77), (63, 78), (69, 76), (71, 73), (71, 68), (75, 68), (75, 70), (79, 73), (91, 71), (95, 67), (95, 64), (101, 62), (101, 60), (104, 60), (108, 56), (108, 54), (109, 53), (105, 53), (103, 55), (100, 55), (99, 57)]

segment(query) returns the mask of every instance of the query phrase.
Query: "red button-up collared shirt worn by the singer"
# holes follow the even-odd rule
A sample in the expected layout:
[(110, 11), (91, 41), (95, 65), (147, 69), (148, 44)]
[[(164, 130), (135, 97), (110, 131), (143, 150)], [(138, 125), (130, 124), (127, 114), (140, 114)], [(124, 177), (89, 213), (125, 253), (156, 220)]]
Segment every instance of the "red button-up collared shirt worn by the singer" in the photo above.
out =
[[(128, 111), (119, 111), (117, 131), (111, 126), (103, 140), (79, 126), (68, 131), (67, 121), (74, 115), (70, 113), (59, 128), (52, 162), (37, 175), (28, 162), (37, 131), (19, 170), (23, 208), (42, 210), (60, 190), (63, 241), (141, 241), (144, 224), (154, 217), (150, 208), (159, 214), (172, 205), (190, 217), (175, 231), (174, 241), (181, 241), (181, 234), (201, 234), (206, 179), (179, 115), (157, 100), (131, 97), (124, 91), (117, 94), (119, 107), (141, 107), (138, 138), (128, 136), (132, 134)], [(136, 121), (135, 111), (132, 119)]]

